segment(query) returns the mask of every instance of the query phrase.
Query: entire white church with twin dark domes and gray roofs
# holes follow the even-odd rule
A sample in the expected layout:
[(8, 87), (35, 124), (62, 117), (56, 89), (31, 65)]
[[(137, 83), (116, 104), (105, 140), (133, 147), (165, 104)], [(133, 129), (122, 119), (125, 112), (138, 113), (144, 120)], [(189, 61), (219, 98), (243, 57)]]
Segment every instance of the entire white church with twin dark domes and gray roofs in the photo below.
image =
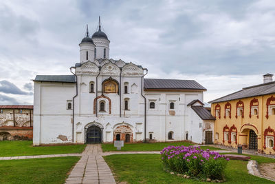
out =
[(214, 117), (193, 80), (148, 79), (148, 70), (109, 59), (109, 39), (97, 31), (79, 44), (71, 75), (34, 79), (34, 145), (184, 141), (211, 143)]

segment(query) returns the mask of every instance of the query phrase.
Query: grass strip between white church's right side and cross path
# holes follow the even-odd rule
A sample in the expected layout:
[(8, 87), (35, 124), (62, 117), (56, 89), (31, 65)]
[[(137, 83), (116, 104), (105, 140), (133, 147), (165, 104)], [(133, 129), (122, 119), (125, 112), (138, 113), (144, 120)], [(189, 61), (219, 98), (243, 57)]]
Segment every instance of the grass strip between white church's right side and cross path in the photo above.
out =
[[(124, 144), (124, 147), (121, 147), (120, 151), (161, 151), (164, 147), (168, 145), (194, 145), (193, 143), (189, 142), (166, 142), (166, 143), (127, 143)], [(113, 152), (117, 151), (116, 147), (113, 146), (113, 143), (102, 144), (101, 145), (103, 152)], [(201, 146), (202, 149), (209, 149), (209, 150), (221, 150), (216, 147), (211, 146)]]

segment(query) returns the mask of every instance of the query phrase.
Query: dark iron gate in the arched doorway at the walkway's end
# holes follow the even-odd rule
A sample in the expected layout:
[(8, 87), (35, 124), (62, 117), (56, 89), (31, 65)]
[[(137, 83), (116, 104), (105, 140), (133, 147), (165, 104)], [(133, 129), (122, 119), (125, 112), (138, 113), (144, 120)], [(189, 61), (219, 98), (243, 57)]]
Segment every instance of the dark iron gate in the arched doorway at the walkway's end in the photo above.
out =
[(102, 130), (96, 125), (92, 125), (86, 130), (86, 143), (96, 144), (102, 143)]

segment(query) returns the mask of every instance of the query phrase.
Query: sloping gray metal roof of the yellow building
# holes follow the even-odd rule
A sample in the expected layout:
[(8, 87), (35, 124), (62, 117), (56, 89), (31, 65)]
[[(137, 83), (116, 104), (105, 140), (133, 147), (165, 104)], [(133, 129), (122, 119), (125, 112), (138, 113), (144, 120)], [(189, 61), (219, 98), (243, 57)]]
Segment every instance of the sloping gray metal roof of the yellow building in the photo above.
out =
[(248, 97), (261, 96), (265, 94), (275, 94), (275, 81), (271, 83), (262, 83), (260, 85), (252, 85), (243, 90), (228, 94), (219, 99), (215, 99), (208, 103), (217, 103), (223, 101), (232, 101), (236, 99), (244, 99)]

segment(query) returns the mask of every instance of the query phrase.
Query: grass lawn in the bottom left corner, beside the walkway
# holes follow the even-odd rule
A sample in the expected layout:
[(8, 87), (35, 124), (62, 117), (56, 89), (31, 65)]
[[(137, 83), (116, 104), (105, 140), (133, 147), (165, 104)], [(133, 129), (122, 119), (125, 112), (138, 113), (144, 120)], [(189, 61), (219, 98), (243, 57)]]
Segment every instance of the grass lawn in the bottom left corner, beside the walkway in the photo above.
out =
[(65, 183), (80, 157), (0, 161), (0, 183)]

